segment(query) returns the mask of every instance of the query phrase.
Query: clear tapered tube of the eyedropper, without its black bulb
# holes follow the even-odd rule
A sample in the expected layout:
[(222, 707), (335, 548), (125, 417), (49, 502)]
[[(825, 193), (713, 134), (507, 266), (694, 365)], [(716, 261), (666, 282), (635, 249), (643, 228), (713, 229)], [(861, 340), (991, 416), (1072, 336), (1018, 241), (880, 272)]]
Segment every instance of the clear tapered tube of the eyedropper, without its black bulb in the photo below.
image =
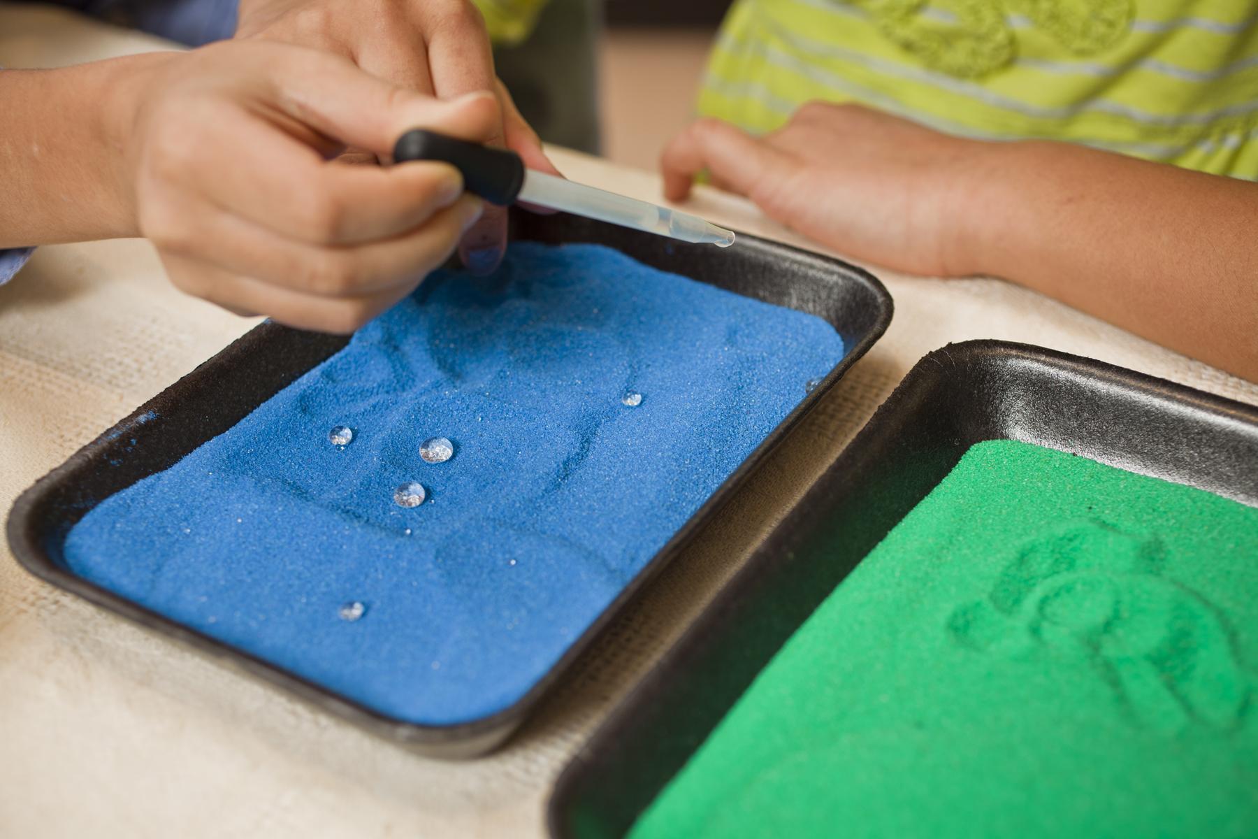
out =
[(733, 230), (718, 228), (697, 215), (669, 210), (667, 206), (639, 201), (594, 186), (574, 184), (533, 170), (528, 170), (525, 175), (525, 185), (516, 200), (576, 213), (635, 230), (658, 233), (682, 242), (713, 244), (718, 248), (733, 244)]

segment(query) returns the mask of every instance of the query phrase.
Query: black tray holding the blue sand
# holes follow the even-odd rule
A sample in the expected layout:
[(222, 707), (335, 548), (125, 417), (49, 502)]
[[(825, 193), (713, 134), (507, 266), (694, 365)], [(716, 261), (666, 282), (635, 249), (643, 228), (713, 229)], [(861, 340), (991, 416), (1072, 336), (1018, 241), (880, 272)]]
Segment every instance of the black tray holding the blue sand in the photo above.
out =
[(512, 228), (513, 236), (518, 239), (610, 245), (649, 265), (816, 314), (839, 332), (848, 347), (847, 356), (819, 386), (717, 488), (559, 663), (513, 706), (454, 726), (401, 722), (106, 591), (75, 576), (62, 562), (67, 533), (92, 507), (174, 465), (200, 444), (235, 425), (286, 385), (343, 347), (343, 337), (302, 332), (274, 323), (252, 330), (23, 493), (14, 503), (8, 525), (14, 556), (31, 574), (55, 586), (226, 659), (331, 713), (418, 751), (443, 757), (470, 757), (494, 748), (521, 725), (574, 659), (603, 634), (643, 584), (682, 550), (824, 391), (869, 350), (886, 331), (892, 314), (891, 296), (871, 274), (837, 259), (750, 235), (740, 234), (735, 247), (718, 250), (707, 245), (674, 245), (659, 236), (570, 215), (513, 213)]

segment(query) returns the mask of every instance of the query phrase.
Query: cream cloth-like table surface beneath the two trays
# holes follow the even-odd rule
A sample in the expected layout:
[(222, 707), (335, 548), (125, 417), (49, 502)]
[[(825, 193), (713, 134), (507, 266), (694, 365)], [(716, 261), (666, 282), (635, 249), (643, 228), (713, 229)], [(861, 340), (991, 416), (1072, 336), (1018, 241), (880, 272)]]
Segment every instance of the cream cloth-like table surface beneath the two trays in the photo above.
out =
[[(160, 48), (0, 5), (0, 65)], [(654, 174), (551, 151), (574, 180), (659, 200)], [(712, 190), (687, 209), (816, 249)], [(39, 582), (0, 545), (0, 835), (543, 835), (550, 789), (576, 748), (930, 350), (1023, 341), (1258, 404), (1253, 384), (1015, 286), (872, 270), (896, 299), (886, 337), (486, 758), (434, 761), (376, 740)], [(255, 322), (174, 291), (142, 240), (42, 248), (0, 287), (0, 511)]]

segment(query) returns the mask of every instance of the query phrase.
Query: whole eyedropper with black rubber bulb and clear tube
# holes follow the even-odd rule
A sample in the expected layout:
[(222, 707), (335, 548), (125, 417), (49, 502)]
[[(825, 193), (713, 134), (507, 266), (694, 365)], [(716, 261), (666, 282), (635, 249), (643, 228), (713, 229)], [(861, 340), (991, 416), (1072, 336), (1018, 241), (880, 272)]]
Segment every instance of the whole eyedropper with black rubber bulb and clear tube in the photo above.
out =
[(682, 242), (718, 248), (733, 244), (732, 230), (697, 215), (526, 169), (520, 155), (504, 148), (416, 128), (403, 135), (394, 147), (395, 162), (410, 160), (450, 164), (463, 174), (468, 191), (491, 204), (525, 201)]

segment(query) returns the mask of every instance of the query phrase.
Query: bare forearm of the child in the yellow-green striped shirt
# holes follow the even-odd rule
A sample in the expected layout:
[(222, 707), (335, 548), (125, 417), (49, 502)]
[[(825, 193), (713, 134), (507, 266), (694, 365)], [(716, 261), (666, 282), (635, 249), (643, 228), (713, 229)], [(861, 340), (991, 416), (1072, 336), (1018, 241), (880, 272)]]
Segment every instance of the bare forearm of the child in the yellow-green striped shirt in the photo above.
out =
[(1052, 142), (980, 166), (966, 270), (1258, 381), (1258, 185)]

